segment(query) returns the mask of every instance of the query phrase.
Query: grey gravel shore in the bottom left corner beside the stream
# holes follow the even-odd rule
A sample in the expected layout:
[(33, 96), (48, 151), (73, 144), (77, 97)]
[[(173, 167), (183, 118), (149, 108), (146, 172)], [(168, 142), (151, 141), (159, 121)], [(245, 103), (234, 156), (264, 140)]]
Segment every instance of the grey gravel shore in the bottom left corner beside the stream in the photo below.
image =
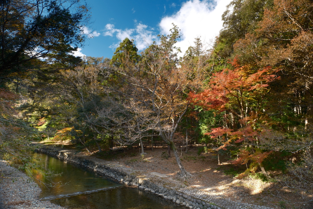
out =
[(22, 171), (1, 160), (0, 167), (3, 171), (3, 176), (1, 176), (0, 170), (0, 209), (64, 209), (49, 201), (40, 201), (41, 189)]

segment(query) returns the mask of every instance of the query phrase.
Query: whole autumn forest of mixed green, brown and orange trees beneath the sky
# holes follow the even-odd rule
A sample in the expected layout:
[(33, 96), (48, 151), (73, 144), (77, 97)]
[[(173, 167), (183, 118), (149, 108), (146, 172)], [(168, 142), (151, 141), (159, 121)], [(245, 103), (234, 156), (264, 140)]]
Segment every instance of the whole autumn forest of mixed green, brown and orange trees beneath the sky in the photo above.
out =
[(72, 54), (90, 20), (79, 0), (7, 0), (0, 17), (1, 158), (45, 140), (90, 154), (161, 145), (187, 179), (180, 150), (200, 144), (243, 165), (237, 178), (260, 172), (313, 195), (311, 0), (233, 0), (212, 46), (195, 37), (181, 52), (173, 24), (110, 58)]

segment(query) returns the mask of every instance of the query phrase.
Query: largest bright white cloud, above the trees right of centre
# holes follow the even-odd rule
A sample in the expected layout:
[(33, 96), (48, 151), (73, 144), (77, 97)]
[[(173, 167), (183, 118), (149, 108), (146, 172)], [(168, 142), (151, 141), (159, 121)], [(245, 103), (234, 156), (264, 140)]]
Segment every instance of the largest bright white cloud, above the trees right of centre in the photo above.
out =
[(194, 38), (201, 36), (205, 42), (214, 40), (223, 27), (222, 14), (231, 0), (190, 0), (182, 4), (180, 10), (162, 18), (159, 26), (162, 34), (169, 34), (172, 23), (181, 29), (182, 39), (176, 46), (184, 53)]

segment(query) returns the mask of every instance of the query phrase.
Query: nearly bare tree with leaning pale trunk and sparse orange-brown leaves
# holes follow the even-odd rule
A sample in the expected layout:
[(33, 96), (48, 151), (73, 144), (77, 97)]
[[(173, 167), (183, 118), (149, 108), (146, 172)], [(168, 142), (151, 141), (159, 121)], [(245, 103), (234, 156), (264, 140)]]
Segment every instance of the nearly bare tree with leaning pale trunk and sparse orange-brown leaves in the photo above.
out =
[(132, 62), (128, 53), (125, 53), (123, 56), (127, 59), (123, 67), (115, 67), (111, 71), (121, 86), (107, 88), (136, 102), (136, 106), (141, 108), (134, 115), (142, 114), (142, 108), (148, 111), (144, 120), (149, 123), (142, 128), (159, 133), (173, 150), (181, 177), (186, 178), (190, 174), (183, 167), (173, 142), (174, 133), (188, 108), (188, 102), (184, 99), (188, 81), (186, 73), (177, 67), (179, 49), (174, 46), (180, 37), (179, 29), (174, 26), (171, 34), (159, 37), (160, 44), (151, 44), (141, 54), (138, 63)]

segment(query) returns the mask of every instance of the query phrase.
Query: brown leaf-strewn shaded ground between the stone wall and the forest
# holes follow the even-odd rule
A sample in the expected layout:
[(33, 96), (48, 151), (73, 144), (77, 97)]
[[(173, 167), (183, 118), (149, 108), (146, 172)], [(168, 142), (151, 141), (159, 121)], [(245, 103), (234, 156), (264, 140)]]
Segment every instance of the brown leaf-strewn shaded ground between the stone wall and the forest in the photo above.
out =
[[(70, 144), (54, 144), (66, 149), (74, 149)], [(187, 153), (180, 152), (181, 160), (186, 170), (193, 177), (183, 181), (177, 178), (179, 168), (175, 157), (167, 158), (167, 147), (157, 147), (145, 149), (145, 155), (140, 155), (139, 148), (120, 149), (117, 151), (95, 152), (90, 156), (88, 152), (80, 152), (80, 155), (88, 155), (99, 159), (105, 159), (112, 163), (119, 163), (127, 168), (139, 170), (136, 175), (158, 172), (165, 174), (168, 178), (162, 178), (170, 184), (183, 189), (198, 190), (210, 195), (222, 196), (232, 201), (249, 203), (253, 205), (266, 206), (270, 208), (313, 208), (313, 202), (305, 202), (310, 197), (303, 199), (297, 192), (292, 192), (273, 180), (262, 180), (262, 175), (249, 176), (244, 179), (237, 179), (235, 176), (243, 172), (246, 168), (230, 165), (220, 158), (218, 164), (217, 156), (213, 153), (201, 153), (198, 155), (198, 147), (194, 145)], [(275, 173), (274, 173), (275, 174)], [(259, 178), (259, 177), (261, 178)], [(165, 182), (165, 184), (167, 184)], [(164, 182), (163, 182), (164, 183)], [(281, 197), (281, 198), (280, 198)], [(288, 201), (291, 202), (288, 202)]]

